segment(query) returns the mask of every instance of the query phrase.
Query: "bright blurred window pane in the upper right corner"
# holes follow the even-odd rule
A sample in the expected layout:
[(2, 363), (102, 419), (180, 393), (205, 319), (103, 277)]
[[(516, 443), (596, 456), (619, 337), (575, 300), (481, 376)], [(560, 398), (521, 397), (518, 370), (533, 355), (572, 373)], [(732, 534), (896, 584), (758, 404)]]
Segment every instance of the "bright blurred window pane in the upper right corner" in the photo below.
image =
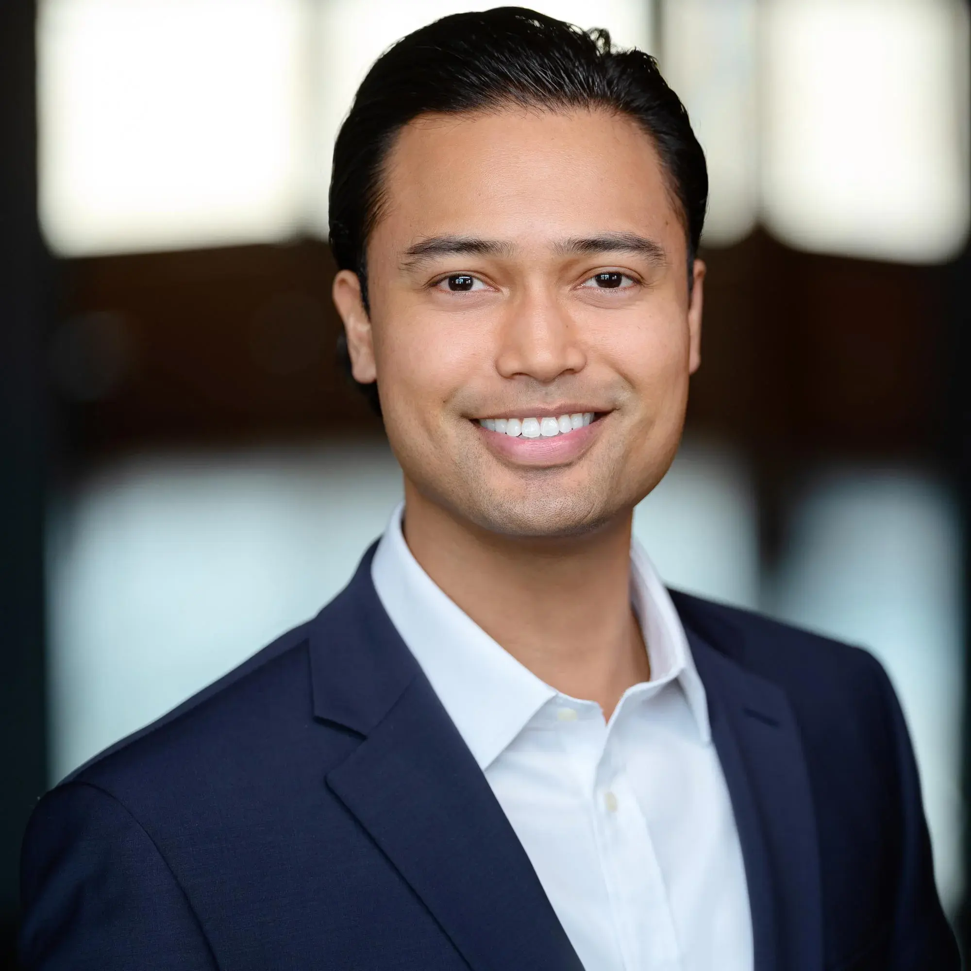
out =
[(968, 226), (961, 0), (769, 0), (764, 218), (782, 240), (936, 262)]

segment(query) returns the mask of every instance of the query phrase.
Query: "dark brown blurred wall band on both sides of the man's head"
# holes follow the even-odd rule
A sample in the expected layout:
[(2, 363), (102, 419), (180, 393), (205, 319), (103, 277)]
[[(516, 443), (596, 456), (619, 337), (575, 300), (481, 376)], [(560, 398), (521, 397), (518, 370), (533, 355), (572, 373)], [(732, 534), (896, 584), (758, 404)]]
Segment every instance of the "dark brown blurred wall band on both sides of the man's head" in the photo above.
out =
[[(800, 253), (760, 231), (703, 255), (694, 430), (766, 458), (939, 450), (941, 269)], [(314, 240), (69, 261), (50, 360), (78, 457), (370, 427), (335, 368), (333, 275)]]

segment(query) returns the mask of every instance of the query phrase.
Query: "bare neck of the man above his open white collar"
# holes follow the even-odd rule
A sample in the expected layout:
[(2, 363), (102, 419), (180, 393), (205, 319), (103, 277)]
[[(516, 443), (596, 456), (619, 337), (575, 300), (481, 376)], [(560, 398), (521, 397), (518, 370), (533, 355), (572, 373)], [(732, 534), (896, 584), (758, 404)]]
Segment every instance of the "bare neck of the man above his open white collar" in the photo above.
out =
[(458, 519), (405, 482), (405, 539), (421, 568), (548, 685), (596, 701), (650, 677), (630, 606), (627, 512), (583, 536), (521, 538)]

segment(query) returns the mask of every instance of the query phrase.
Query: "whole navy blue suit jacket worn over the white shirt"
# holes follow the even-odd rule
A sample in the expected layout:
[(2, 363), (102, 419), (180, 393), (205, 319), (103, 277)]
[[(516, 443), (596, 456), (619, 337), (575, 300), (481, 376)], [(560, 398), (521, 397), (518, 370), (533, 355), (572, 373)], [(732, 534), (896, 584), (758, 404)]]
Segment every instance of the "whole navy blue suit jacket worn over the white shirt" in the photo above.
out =
[[(581, 967), (370, 563), (316, 619), (41, 800), (26, 968)], [(675, 603), (738, 823), (756, 971), (957, 968), (880, 665)]]

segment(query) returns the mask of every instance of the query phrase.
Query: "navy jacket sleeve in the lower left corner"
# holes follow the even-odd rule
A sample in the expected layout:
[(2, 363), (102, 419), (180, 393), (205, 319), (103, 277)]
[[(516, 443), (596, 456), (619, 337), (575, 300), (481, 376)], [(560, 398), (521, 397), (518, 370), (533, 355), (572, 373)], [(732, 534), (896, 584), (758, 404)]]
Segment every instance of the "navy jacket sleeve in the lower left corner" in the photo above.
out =
[(48, 793), (21, 857), (24, 971), (215, 971), (182, 887), (149, 834), (104, 790)]

